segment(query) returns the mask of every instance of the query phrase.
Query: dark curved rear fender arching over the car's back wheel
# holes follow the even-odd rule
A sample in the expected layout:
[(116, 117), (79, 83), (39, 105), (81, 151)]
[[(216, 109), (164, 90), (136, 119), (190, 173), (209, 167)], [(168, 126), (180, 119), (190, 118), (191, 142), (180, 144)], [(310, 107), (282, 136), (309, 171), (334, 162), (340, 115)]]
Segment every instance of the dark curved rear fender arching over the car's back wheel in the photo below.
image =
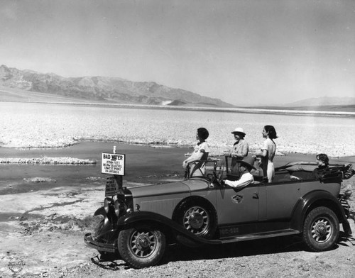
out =
[(334, 195), (323, 190), (311, 191), (305, 194), (305, 196), (302, 196), (293, 210), (291, 228), (302, 232), (303, 223), (312, 206), (327, 206), (331, 208), (337, 215), (339, 222), (343, 224), (345, 232), (351, 235), (351, 230), (347, 230), (348, 228), (346, 228), (349, 226), (349, 222), (346, 219), (342, 204), (340, 204), (339, 200)]

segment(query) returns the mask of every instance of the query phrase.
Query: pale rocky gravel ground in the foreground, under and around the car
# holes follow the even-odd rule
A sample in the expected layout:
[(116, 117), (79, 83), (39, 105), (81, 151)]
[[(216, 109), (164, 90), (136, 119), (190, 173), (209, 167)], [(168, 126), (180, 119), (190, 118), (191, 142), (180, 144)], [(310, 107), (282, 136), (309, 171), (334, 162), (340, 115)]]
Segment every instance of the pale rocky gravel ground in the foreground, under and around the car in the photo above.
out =
[[(98, 221), (88, 212), (99, 207), (103, 190), (92, 184), (87, 190), (27, 193), (35, 205), (0, 224), (0, 277), (354, 277), (355, 239), (342, 236), (328, 252), (308, 252), (298, 237), (193, 249), (171, 245), (160, 265), (132, 269), (119, 257), (102, 258), (84, 245), (84, 233)], [(5, 195), (2, 206), (24, 199), (16, 195)], [(354, 220), (350, 223), (355, 231)], [(16, 264), (23, 269), (13, 275)]]

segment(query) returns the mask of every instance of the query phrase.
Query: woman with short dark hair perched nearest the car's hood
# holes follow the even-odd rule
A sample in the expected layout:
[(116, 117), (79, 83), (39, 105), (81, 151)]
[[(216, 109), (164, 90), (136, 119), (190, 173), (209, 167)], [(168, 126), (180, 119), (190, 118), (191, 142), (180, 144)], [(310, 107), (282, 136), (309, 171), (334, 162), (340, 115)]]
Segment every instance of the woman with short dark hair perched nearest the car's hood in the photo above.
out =
[(208, 158), (209, 147), (205, 140), (208, 136), (209, 133), (206, 128), (198, 128), (196, 139), (199, 140), (199, 142), (195, 145), (192, 155), (182, 162), (182, 167), (184, 167), (185, 170), (188, 166), (190, 167), (190, 177), (201, 177), (204, 176), (206, 172), (205, 161)]

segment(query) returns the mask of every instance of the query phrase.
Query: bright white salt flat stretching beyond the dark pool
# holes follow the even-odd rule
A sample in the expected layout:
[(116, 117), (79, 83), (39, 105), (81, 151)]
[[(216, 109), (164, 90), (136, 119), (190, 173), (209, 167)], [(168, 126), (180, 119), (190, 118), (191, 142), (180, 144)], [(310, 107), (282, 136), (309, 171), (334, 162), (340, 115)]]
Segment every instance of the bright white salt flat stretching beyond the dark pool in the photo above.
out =
[(53, 148), (82, 140), (192, 146), (197, 128), (209, 130), (212, 153), (220, 154), (234, 142), (231, 130), (246, 131), (251, 152), (263, 143), (261, 130), (275, 126), (278, 153), (320, 153), (330, 157), (355, 155), (353, 117), (305, 116), (272, 113), (231, 113), (135, 109), (0, 102), (1, 146)]

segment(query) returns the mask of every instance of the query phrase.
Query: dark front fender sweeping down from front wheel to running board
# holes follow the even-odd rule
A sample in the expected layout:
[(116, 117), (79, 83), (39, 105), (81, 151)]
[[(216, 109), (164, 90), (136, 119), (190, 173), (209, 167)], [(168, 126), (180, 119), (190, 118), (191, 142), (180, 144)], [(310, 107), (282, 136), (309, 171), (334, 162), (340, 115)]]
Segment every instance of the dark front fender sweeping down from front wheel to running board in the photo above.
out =
[(148, 223), (154, 223), (156, 226), (164, 227), (164, 228), (169, 228), (170, 230), (173, 230), (175, 232), (175, 235), (178, 236), (184, 236), (190, 240), (193, 240), (197, 243), (202, 243), (202, 244), (220, 244), (222, 243), (221, 240), (207, 240), (204, 238), (200, 238), (197, 235), (194, 235), (191, 233), (189, 230), (186, 230), (184, 227), (176, 223), (175, 221), (171, 220), (168, 217), (162, 216), (159, 213), (154, 213), (151, 211), (134, 211), (131, 213), (126, 214), (125, 216), (122, 216), (119, 218), (117, 221), (117, 225), (119, 226), (119, 229), (124, 229), (124, 228), (129, 228), (134, 226), (135, 224), (141, 223), (141, 222), (148, 222)]

